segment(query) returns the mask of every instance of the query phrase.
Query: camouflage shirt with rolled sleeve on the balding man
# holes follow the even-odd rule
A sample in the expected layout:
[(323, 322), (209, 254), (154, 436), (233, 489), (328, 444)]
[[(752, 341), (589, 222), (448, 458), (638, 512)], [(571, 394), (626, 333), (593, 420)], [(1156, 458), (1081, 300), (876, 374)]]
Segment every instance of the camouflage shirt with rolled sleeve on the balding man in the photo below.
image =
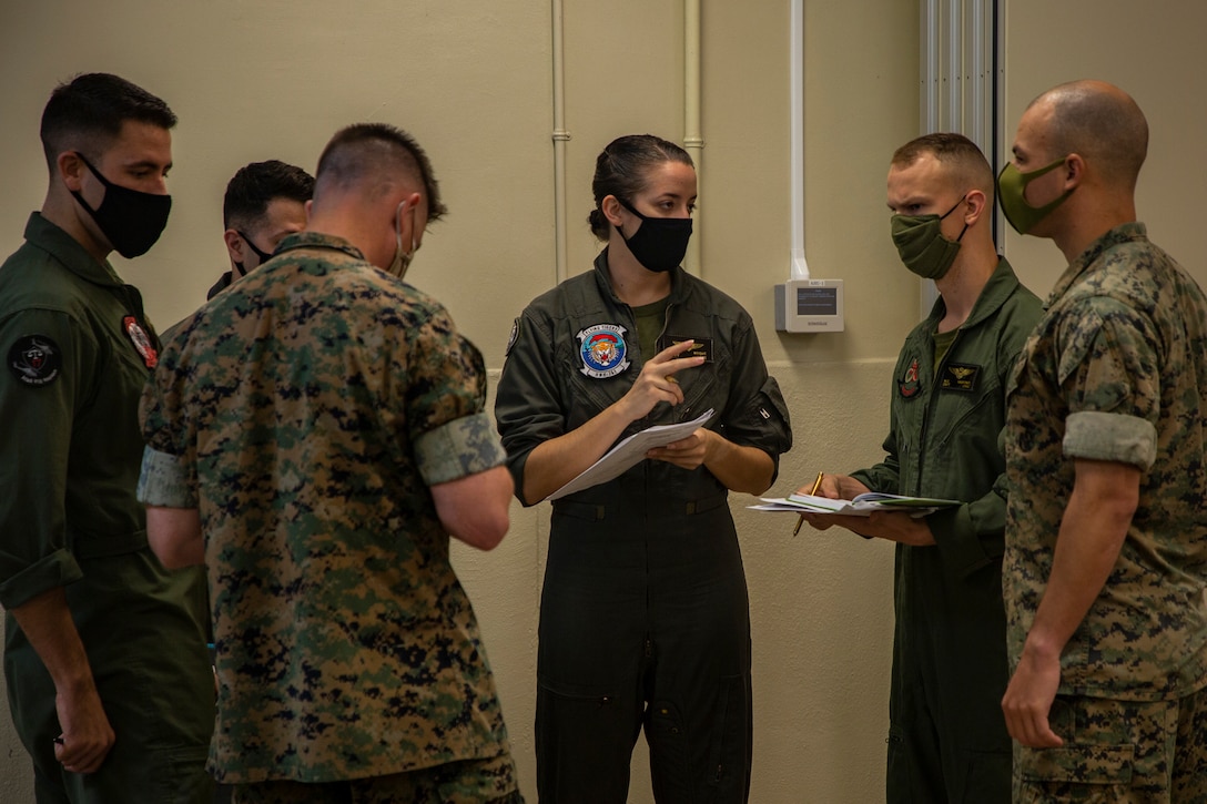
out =
[(1008, 390), (1003, 585), (1018, 663), (1051, 573), (1074, 459), (1142, 471), (1106, 585), (1061, 656), (1063, 694), (1145, 700), (1207, 684), (1207, 302), (1116, 227), (1065, 272)]

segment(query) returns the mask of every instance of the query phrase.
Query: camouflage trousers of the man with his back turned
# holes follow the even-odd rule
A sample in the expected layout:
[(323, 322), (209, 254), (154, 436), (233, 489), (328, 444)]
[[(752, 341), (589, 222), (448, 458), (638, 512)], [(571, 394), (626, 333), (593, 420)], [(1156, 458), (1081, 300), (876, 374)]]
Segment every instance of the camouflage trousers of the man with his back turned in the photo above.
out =
[(524, 804), (511, 755), (342, 782), (235, 785), (234, 804)]

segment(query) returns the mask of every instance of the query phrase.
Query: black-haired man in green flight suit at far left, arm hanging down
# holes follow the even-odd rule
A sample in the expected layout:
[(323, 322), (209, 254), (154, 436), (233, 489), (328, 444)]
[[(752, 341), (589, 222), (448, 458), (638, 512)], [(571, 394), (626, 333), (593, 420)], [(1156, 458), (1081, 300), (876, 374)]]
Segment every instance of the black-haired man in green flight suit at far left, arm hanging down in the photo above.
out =
[(51, 171), (0, 267), (5, 674), (39, 802), (206, 802), (204, 576), (168, 572), (135, 500), (138, 398), (158, 337), (107, 262), (167, 223), (176, 117), (106, 74), (58, 87)]

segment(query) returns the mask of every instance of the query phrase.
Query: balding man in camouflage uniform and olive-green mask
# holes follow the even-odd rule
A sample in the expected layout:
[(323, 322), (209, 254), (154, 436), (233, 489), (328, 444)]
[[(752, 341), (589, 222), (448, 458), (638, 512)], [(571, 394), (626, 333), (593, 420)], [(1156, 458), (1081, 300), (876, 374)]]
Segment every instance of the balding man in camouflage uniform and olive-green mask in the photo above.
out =
[(1079, 81), (998, 179), (1069, 262), (1008, 391), (1015, 800), (1207, 800), (1207, 301), (1136, 221), (1147, 147), (1127, 94)]

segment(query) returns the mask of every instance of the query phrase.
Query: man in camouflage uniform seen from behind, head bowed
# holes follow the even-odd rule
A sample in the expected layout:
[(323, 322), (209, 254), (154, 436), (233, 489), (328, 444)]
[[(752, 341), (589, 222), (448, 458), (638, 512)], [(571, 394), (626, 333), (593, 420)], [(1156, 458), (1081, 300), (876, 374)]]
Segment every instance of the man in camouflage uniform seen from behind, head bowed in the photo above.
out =
[(480, 354), (401, 281), (443, 212), (413, 139), (344, 129), (309, 231), (186, 320), (144, 394), (150, 447), (197, 478), (198, 509), (148, 529), (208, 566), (210, 767), (235, 800), (519, 800), (449, 564), (449, 535), (502, 538), (511, 476)]

